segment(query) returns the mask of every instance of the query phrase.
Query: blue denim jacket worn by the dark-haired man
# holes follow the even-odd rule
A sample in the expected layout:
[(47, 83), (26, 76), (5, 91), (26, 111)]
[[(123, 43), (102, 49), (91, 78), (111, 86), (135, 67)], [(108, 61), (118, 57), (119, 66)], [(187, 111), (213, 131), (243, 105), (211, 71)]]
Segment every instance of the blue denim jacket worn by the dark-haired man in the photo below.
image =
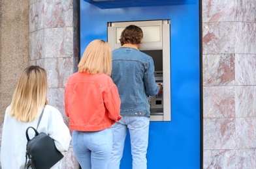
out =
[(112, 52), (112, 79), (121, 99), (121, 116), (150, 116), (148, 96), (159, 92), (149, 55), (125, 44)]

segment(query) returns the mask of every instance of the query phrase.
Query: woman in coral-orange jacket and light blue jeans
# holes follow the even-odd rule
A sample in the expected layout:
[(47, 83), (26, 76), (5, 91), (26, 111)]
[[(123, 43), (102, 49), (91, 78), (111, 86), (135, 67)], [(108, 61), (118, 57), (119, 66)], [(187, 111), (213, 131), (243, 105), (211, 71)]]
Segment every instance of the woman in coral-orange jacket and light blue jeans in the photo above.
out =
[(112, 150), (111, 125), (121, 119), (120, 96), (113, 83), (112, 51), (108, 42), (93, 40), (69, 77), (65, 113), (72, 130), (72, 147), (85, 169), (107, 167)]

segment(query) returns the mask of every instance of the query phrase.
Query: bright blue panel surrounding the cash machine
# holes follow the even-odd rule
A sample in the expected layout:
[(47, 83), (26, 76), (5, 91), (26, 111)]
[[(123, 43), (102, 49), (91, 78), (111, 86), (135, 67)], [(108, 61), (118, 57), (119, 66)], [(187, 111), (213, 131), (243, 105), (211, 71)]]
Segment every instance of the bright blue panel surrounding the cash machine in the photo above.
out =
[[(92, 40), (108, 40), (109, 22), (161, 19), (170, 20), (170, 86), (164, 88), (170, 88), (171, 121), (150, 122), (148, 169), (197, 169), (202, 167), (199, 0), (80, 0), (80, 55)], [(132, 168), (129, 135), (120, 168)]]

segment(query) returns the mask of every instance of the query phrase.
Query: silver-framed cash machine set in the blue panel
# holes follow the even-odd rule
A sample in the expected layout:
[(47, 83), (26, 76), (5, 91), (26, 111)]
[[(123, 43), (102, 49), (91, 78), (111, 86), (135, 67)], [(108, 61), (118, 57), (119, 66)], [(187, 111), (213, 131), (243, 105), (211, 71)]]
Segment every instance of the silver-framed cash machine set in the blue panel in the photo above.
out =
[(137, 25), (143, 31), (140, 51), (153, 58), (155, 83), (163, 90), (155, 96), (149, 96), (150, 120), (170, 121), (170, 20), (122, 21), (108, 23), (108, 43), (112, 50), (121, 47), (121, 32), (128, 25)]

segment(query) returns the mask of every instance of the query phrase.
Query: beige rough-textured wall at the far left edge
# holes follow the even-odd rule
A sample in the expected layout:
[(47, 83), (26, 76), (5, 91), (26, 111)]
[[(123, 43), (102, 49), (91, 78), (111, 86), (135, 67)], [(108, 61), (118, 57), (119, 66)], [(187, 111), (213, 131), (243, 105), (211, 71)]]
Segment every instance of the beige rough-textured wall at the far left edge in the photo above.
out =
[(29, 65), (29, 1), (0, 1), (0, 122)]

